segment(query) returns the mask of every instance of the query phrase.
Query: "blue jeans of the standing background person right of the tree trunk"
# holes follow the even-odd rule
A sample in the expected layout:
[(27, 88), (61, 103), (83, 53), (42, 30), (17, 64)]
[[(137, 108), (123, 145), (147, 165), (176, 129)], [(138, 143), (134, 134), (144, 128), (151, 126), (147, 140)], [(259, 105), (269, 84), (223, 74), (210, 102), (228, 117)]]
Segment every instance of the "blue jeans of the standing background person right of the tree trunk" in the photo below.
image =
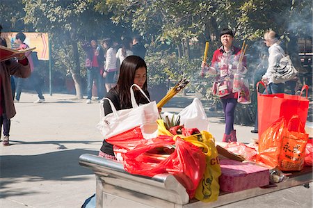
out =
[(87, 99), (91, 99), (93, 96), (93, 80), (95, 79), (97, 84), (97, 96), (98, 99), (104, 97), (104, 84), (102, 82), (102, 74), (100, 74), (99, 67), (91, 67), (87, 69)]

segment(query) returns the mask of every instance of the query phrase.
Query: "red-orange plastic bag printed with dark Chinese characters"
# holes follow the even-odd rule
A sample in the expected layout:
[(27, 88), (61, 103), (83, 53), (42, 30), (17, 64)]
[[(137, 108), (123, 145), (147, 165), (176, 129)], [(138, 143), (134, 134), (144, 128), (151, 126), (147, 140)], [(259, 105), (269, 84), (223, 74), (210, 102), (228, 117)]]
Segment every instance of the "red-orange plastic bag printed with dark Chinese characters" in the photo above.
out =
[(302, 170), (305, 161), (305, 146), (309, 134), (301, 124), (298, 115), (294, 115), (288, 122), (288, 127), (282, 138), (282, 149), (278, 168), (284, 171)]

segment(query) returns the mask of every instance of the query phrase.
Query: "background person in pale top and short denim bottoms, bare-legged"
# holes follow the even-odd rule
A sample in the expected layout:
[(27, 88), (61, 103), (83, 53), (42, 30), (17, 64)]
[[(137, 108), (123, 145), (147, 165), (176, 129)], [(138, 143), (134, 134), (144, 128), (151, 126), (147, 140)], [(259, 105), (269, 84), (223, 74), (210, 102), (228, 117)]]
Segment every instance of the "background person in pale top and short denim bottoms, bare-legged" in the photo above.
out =
[(115, 86), (115, 80), (119, 74), (118, 67), (116, 65), (116, 51), (113, 48), (113, 41), (111, 38), (104, 39), (102, 45), (106, 49), (106, 63), (104, 65), (104, 72), (102, 76), (106, 80), (106, 93), (109, 93), (111, 88)]

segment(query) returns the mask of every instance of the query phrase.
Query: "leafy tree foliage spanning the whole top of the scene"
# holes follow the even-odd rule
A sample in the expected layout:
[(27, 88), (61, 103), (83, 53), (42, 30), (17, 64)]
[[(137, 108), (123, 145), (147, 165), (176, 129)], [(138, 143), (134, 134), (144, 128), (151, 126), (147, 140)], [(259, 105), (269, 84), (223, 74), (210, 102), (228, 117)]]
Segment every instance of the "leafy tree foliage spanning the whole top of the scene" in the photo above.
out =
[[(205, 97), (211, 97), (212, 77), (199, 76), (204, 42), (210, 43), (210, 60), (220, 46), (221, 29), (228, 27), (236, 32), (236, 45), (246, 40), (247, 54), (270, 28), (291, 45), (295, 38), (312, 37), (309, 0), (17, 0), (12, 4), (1, 1), (3, 31), (49, 33), (54, 70), (83, 77), (85, 54), (81, 42), (94, 36), (118, 39), (140, 33), (148, 47), (150, 85), (185, 76), (191, 79), (187, 90)], [(253, 54), (257, 55), (257, 49)]]

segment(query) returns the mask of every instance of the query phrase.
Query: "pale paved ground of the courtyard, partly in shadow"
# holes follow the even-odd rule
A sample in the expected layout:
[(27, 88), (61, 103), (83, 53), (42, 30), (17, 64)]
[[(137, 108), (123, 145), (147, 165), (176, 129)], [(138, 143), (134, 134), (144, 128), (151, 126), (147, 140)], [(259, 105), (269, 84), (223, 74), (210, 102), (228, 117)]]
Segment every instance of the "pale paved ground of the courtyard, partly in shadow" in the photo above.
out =
[[(86, 104), (74, 95), (45, 95), (46, 102), (33, 104), (36, 95), (23, 93), (16, 103), (10, 145), (0, 145), (0, 207), (80, 207), (95, 192), (93, 173), (78, 164), (81, 154), (97, 154), (101, 146), (99, 104)], [(192, 97), (177, 97), (163, 111), (178, 112)], [(208, 106), (205, 106), (207, 111)], [(211, 133), (221, 141), (223, 113), (208, 112)], [(237, 138), (257, 138), (252, 127), (236, 126)], [(312, 186), (312, 184), (311, 184)], [(312, 188), (297, 186), (225, 207), (312, 207)], [(253, 207), (255, 207), (253, 206)]]

